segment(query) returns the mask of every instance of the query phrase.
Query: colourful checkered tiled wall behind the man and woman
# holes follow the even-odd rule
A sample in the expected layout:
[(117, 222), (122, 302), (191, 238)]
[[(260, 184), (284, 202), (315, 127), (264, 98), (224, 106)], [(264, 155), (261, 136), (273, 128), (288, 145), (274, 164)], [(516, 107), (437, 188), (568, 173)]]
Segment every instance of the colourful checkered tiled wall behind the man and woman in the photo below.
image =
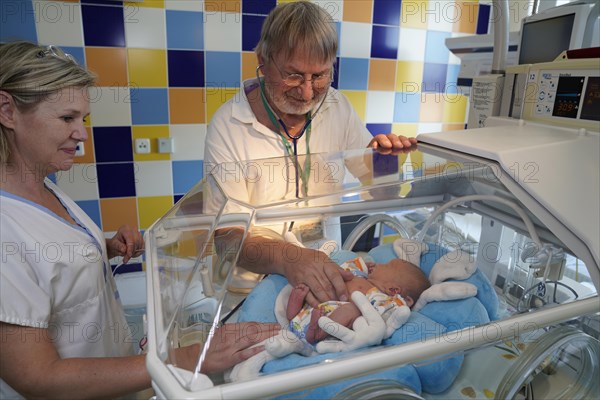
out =
[[(372, 133), (460, 129), (451, 36), (488, 32), (477, 0), (320, 0), (339, 33), (334, 86)], [(254, 76), (276, 0), (0, 2), (0, 40), (61, 46), (99, 76), (84, 155), (58, 184), (110, 234), (146, 229), (202, 178), (206, 124)], [(160, 154), (157, 138), (174, 152)], [(134, 153), (136, 138), (150, 154)]]

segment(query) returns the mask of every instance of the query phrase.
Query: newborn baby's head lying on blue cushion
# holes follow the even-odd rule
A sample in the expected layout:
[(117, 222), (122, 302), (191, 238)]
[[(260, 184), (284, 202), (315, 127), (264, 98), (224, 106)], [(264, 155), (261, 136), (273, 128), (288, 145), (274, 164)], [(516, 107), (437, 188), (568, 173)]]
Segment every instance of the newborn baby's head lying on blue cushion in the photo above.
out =
[(429, 279), (416, 265), (393, 259), (385, 264), (368, 264), (369, 281), (388, 295), (399, 294), (412, 307), (421, 293), (431, 286)]

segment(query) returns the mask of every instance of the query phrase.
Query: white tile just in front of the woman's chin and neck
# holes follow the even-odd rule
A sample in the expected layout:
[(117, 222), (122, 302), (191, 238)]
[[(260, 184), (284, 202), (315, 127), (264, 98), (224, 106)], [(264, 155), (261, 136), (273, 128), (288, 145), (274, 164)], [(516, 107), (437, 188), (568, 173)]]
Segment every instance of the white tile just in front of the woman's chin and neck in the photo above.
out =
[(75, 201), (100, 197), (96, 164), (73, 164), (70, 170), (57, 172), (56, 184)]

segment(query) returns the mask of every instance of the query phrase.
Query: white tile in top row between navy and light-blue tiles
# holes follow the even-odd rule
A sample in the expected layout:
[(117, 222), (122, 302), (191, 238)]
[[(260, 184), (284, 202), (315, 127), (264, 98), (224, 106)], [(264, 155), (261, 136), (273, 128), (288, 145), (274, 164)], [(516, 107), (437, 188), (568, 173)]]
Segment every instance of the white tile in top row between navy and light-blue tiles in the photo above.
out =
[(125, 39), (128, 47), (166, 48), (165, 10), (138, 7), (135, 13), (125, 11)]

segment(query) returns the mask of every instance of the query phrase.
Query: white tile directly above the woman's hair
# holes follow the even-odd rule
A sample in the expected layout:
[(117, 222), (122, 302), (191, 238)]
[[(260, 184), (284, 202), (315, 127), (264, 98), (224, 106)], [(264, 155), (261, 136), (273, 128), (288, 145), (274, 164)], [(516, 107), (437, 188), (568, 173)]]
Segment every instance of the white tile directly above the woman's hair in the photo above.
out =
[(32, 4), (40, 44), (83, 46), (79, 3), (34, 0)]

